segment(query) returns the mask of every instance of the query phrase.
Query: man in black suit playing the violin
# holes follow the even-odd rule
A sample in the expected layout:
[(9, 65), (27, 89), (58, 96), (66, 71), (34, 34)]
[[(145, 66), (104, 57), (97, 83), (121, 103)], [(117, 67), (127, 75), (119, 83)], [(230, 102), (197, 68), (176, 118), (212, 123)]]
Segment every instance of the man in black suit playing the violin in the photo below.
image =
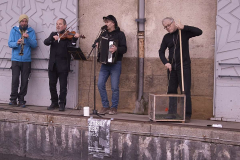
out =
[[(49, 90), (51, 94), (51, 105), (47, 108), (53, 110), (59, 108), (59, 111), (65, 110), (67, 96), (67, 78), (70, 71), (71, 55), (68, 53), (68, 47), (76, 46), (78, 33), (72, 36), (72, 39), (65, 37), (67, 28), (66, 20), (59, 18), (56, 23), (56, 31), (44, 40), (44, 44), (50, 47), (50, 58), (48, 64)], [(57, 81), (60, 83), (60, 95), (57, 94)]]

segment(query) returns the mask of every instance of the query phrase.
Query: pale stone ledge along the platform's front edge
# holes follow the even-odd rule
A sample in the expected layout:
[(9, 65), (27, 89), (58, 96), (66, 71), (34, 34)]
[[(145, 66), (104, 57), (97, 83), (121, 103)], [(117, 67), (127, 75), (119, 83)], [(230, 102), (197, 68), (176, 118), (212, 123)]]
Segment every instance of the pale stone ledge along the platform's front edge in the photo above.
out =
[[(39, 124), (66, 125), (88, 128), (87, 117), (79, 115), (53, 115), (40, 113), (12, 113), (0, 111), (0, 121)], [(209, 128), (196, 125), (176, 123), (155, 123), (114, 119), (111, 121), (111, 132), (122, 134), (137, 134), (153, 137), (169, 137), (174, 139), (188, 139), (201, 142), (220, 143), (240, 146), (240, 130), (226, 128)]]

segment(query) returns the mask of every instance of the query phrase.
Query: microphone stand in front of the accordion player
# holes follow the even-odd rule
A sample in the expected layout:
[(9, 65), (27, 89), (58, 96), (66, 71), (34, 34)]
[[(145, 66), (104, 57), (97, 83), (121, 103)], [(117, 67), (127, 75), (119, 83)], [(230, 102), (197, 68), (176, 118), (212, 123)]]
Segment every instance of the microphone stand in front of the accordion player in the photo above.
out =
[(102, 34), (105, 32), (106, 30), (101, 30), (101, 33), (99, 34), (99, 36), (97, 36), (97, 39), (94, 41), (93, 45), (92, 45), (92, 50), (91, 52), (88, 54), (88, 57), (87, 59), (90, 57), (90, 55), (92, 54), (92, 51), (94, 50), (94, 55), (93, 55), (93, 68), (94, 68), (94, 71), (93, 71), (93, 74), (94, 74), (94, 90), (93, 90), (93, 113), (91, 115), (97, 115), (99, 117), (102, 117), (100, 114), (98, 114), (97, 110), (96, 110), (96, 60), (97, 60), (97, 52), (96, 52), (96, 44), (98, 42), (98, 39), (102, 36)]

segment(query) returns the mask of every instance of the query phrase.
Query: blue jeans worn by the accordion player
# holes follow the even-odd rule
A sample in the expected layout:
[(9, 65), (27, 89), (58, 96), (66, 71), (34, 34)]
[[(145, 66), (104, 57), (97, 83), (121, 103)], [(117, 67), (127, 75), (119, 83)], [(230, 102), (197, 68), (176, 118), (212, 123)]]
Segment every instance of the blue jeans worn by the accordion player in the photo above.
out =
[(102, 64), (99, 77), (98, 77), (98, 90), (102, 99), (103, 107), (109, 107), (109, 101), (106, 91), (106, 82), (109, 76), (111, 76), (111, 89), (112, 89), (112, 106), (118, 107), (119, 102), (119, 80), (122, 69), (122, 61), (117, 61), (116, 64), (106, 65)]

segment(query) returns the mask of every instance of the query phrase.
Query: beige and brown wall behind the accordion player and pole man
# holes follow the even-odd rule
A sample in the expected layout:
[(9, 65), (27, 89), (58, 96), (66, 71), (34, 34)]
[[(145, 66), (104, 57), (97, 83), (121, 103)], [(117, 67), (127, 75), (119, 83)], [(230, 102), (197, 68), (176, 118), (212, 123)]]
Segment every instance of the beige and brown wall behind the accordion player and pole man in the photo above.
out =
[[(166, 93), (166, 69), (158, 57), (158, 50), (166, 31), (161, 20), (166, 16), (181, 20), (183, 24), (199, 27), (203, 35), (190, 40), (190, 56), (192, 59), (192, 108), (193, 118), (209, 119), (213, 114), (213, 76), (214, 76), (214, 44), (216, 28), (217, 1), (206, 0), (169, 0), (145, 1), (145, 64), (144, 64), (144, 98), (148, 101), (149, 93)], [(103, 26), (102, 17), (108, 14), (116, 16), (120, 28), (127, 38), (128, 52), (124, 55), (120, 80), (120, 112), (133, 112), (137, 98), (137, 0), (112, 1), (80, 1), (79, 15), (80, 33), (87, 38), (80, 40), (80, 47), (88, 54), (91, 45)], [(80, 62), (79, 72), (79, 104), (93, 106), (93, 62)], [(97, 65), (98, 78), (100, 64)], [(91, 81), (90, 81), (91, 80)], [(90, 89), (90, 91), (89, 91)], [(110, 80), (107, 83), (109, 99), (111, 98)], [(97, 108), (101, 108), (98, 90)], [(146, 103), (147, 104), (147, 103)]]

